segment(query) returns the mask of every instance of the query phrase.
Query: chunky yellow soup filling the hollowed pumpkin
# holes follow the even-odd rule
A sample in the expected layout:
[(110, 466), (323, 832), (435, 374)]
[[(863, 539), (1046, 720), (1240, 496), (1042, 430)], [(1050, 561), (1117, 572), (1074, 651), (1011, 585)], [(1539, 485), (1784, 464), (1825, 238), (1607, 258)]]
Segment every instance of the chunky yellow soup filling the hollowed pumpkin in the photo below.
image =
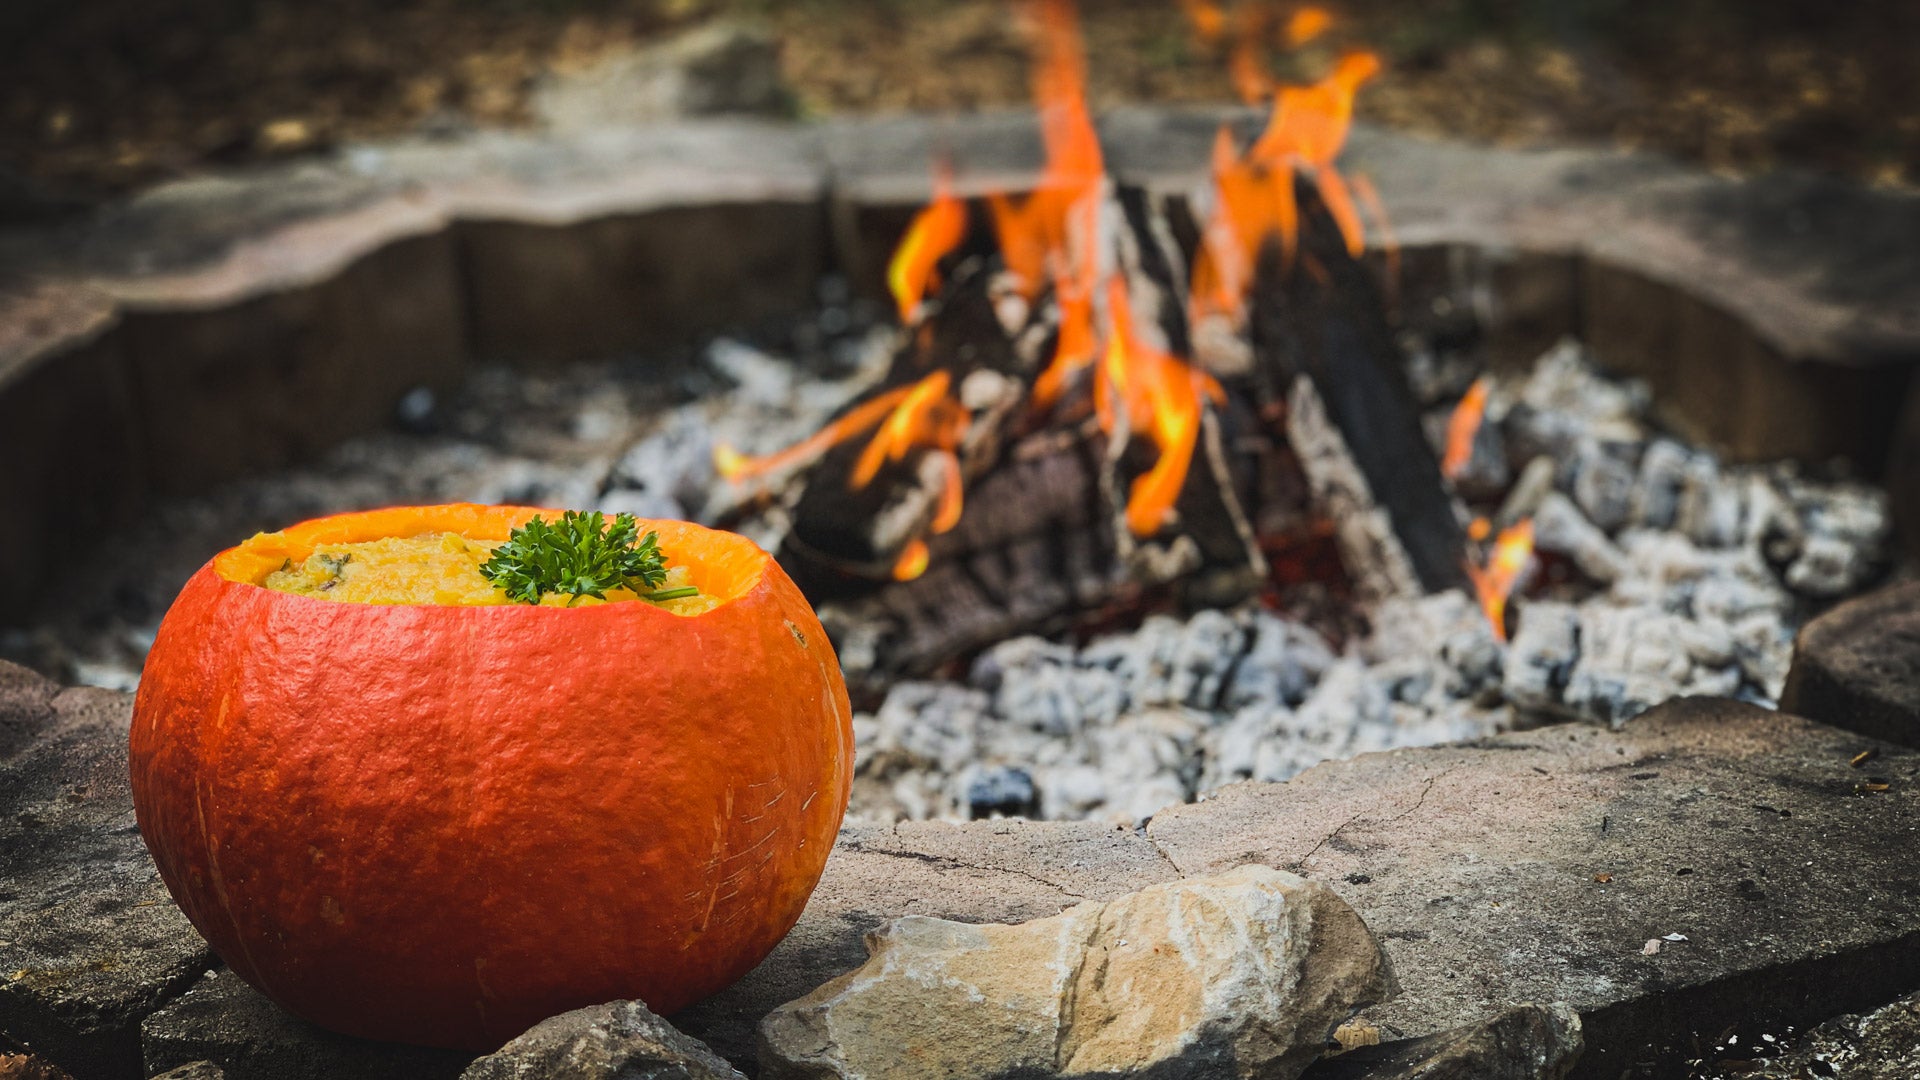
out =
[[(263, 586), (317, 596), (342, 603), (436, 603), (447, 607), (482, 607), (513, 603), (507, 594), (480, 573), (480, 563), (493, 555), (503, 540), (468, 540), (459, 532), (424, 532), (420, 536), (388, 536), (353, 544), (321, 544), (303, 561), (288, 561), (261, 580)], [(685, 567), (668, 567), (659, 590), (693, 584)], [(611, 588), (607, 600), (545, 594), (541, 605), (586, 607), (641, 600), (632, 590)], [(707, 594), (664, 600), (659, 607), (674, 615), (712, 611), (718, 600)]]

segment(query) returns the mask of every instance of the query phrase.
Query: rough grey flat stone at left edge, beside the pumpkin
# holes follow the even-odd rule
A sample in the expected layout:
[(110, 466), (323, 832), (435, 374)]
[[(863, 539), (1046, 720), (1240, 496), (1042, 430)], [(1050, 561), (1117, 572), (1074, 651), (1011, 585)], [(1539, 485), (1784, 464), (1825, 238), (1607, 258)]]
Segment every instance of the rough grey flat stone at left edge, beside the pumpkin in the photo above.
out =
[(0, 663), (0, 1034), (79, 1080), (140, 1076), (140, 1017), (213, 965), (134, 826), (131, 705)]

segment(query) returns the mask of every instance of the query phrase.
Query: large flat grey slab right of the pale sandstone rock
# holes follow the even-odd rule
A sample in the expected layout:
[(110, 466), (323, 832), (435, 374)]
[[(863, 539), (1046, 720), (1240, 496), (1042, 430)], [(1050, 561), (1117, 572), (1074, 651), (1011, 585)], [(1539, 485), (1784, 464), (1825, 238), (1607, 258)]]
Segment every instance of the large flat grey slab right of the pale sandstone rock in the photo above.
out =
[(1695, 1032), (1805, 1026), (1920, 970), (1920, 753), (1726, 700), (1327, 763), (1148, 836), (1183, 874), (1336, 882), (1400, 974), (1369, 1011), (1390, 1034), (1567, 1001), (1576, 1076), (1672, 1068)]

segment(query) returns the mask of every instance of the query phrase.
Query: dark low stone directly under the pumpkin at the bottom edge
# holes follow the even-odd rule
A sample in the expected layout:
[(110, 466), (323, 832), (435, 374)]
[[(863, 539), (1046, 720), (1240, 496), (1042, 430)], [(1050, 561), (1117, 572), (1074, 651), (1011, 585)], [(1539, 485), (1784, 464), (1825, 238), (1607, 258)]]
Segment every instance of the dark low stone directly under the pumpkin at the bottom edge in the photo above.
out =
[(150, 1015), (140, 1042), (148, 1076), (211, 1061), (227, 1080), (451, 1080), (474, 1057), (328, 1032), (230, 970), (207, 972)]

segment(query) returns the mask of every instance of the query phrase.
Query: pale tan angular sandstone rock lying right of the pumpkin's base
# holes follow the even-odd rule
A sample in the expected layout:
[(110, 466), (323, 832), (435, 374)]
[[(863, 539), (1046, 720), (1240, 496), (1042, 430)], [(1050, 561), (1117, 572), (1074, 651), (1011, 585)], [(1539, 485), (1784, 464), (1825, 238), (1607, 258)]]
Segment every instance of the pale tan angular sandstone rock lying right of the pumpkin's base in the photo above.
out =
[(760, 1026), (768, 1078), (1298, 1076), (1392, 994), (1329, 888), (1267, 867), (1020, 926), (906, 917)]

